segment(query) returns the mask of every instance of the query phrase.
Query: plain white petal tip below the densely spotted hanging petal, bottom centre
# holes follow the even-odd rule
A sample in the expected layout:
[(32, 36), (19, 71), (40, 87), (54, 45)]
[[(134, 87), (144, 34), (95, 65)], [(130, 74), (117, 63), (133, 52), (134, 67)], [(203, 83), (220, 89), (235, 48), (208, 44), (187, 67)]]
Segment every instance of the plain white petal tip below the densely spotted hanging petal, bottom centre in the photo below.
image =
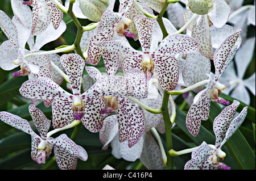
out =
[(143, 149), (143, 137), (133, 147), (129, 147), (129, 141), (119, 142), (119, 153), (127, 161), (134, 162), (141, 157)]

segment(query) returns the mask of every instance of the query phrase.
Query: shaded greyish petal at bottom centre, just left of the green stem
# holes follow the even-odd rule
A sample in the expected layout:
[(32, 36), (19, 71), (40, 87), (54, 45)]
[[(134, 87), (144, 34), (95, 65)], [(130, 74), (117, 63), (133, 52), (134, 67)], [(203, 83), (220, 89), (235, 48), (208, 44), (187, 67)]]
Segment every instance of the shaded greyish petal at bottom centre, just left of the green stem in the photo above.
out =
[(144, 145), (139, 159), (149, 170), (163, 169), (164, 165), (161, 150), (150, 132), (144, 133)]

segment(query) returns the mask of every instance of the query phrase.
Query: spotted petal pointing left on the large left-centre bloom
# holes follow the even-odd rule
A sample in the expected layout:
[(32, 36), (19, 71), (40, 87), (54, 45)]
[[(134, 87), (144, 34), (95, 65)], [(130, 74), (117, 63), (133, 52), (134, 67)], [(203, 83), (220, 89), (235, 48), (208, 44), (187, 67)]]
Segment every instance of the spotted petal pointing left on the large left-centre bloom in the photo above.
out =
[(22, 84), (19, 92), (25, 98), (30, 99), (69, 98), (72, 96), (49, 78), (28, 80)]

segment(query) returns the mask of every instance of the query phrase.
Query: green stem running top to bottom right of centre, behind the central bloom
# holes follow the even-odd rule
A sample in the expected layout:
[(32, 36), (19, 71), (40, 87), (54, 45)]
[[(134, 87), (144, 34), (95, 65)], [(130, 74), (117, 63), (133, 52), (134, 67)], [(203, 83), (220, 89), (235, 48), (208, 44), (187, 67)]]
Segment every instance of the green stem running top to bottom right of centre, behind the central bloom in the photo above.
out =
[[(156, 19), (156, 21), (158, 22), (162, 33), (163, 33), (163, 39), (168, 36), (168, 33), (166, 31), (166, 27), (164, 26), (163, 23), (163, 14), (166, 11), (167, 7), (168, 7), (169, 3), (168, 1), (166, 1), (163, 5), (162, 10), (160, 11), (158, 18)], [(172, 147), (172, 127), (171, 127), (171, 122), (170, 122), (170, 116), (169, 116), (169, 112), (168, 112), (168, 100), (169, 100), (169, 94), (166, 90), (164, 90), (164, 94), (163, 94), (163, 102), (162, 102), (162, 107), (161, 110), (163, 111), (162, 115), (163, 115), (163, 119), (164, 119), (164, 127), (165, 127), (165, 131), (166, 131), (166, 149), (167, 150), (171, 150), (173, 149)], [(173, 158), (170, 154), (167, 154), (167, 162), (166, 162), (166, 166), (167, 169), (173, 170), (174, 166), (173, 166)]]

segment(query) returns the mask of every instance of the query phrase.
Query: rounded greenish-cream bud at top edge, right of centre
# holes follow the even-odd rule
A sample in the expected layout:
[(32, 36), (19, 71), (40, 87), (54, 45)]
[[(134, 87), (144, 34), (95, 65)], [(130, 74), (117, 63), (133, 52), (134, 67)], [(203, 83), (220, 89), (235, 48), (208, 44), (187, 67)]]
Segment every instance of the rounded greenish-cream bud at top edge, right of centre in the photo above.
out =
[(208, 14), (212, 11), (214, 0), (188, 0), (189, 9), (199, 15)]

